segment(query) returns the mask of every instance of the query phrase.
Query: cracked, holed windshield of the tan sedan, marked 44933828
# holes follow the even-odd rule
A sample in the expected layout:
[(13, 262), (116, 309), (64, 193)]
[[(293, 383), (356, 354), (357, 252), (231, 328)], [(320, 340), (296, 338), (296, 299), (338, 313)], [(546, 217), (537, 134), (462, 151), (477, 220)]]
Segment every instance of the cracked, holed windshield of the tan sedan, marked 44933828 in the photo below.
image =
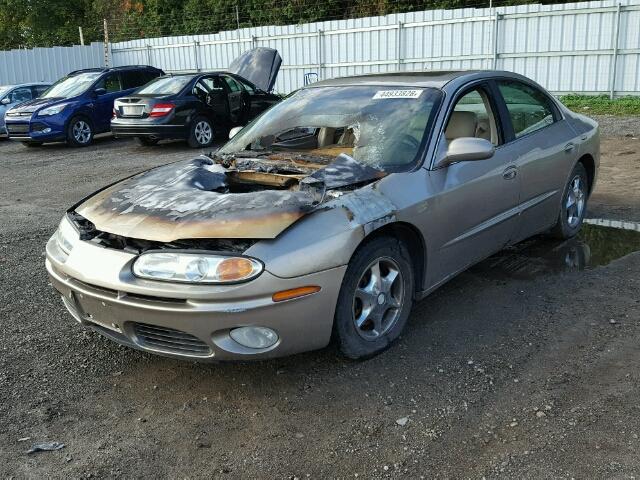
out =
[(380, 170), (416, 160), (440, 93), (379, 86), (299, 90), (257, 118), (217, 153), (341, 154)]

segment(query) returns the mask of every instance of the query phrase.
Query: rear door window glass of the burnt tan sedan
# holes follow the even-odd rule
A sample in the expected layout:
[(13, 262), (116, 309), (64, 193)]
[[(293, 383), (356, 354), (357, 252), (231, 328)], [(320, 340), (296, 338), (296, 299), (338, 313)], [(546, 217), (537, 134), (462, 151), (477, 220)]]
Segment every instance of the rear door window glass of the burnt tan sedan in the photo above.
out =
[(515, 81), (498, 82), (516, 138), (552, 124), (551, 100), (540, 90)]

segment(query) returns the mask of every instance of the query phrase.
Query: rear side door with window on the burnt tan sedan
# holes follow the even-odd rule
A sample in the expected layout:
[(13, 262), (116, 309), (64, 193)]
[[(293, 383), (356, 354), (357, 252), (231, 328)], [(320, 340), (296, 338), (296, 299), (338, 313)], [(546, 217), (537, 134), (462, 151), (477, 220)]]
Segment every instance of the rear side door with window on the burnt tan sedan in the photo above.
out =
[(556, 222), (578, 149), (572, 142), (575, 132), (545, 92), (513, 79), (496, 80), (496, 85), (522, 186), (517, 242)]

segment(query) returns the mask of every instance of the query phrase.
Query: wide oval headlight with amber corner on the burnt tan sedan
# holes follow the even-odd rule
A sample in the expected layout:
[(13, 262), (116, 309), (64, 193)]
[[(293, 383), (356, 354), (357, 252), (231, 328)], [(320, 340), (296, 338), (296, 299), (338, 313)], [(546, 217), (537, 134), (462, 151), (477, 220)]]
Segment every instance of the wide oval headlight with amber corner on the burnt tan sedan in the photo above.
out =
[(133, 264), (136, 277), (183, 283), (235, 283), (257, 277), (262, 263), (247, 257), (151, 252)]

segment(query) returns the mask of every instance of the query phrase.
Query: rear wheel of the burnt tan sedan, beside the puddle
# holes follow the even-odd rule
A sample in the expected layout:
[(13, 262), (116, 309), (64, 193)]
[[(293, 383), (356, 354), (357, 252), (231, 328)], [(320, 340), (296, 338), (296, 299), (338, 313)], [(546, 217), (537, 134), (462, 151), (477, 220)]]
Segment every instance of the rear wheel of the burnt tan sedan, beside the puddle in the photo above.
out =
[(582, 227), (584, 214), (587, 211), (589, 195), (587, 171), (582, 163), (576, 164), (571, 171), (569, 181), (562, 192), (562, 203), (551, 235), (566, 240), (575, 236)]

